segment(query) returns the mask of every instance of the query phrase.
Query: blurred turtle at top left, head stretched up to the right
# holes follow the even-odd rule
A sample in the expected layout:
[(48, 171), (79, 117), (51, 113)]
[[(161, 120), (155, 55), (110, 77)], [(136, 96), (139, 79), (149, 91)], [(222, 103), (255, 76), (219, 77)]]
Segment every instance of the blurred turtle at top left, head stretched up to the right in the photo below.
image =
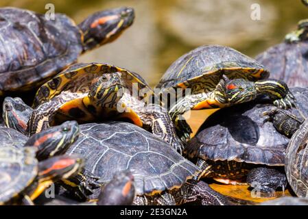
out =
[(0, 95), (32, 90), (81, 53), (115, 40), (134, 20), (132, 8), (97, 12), (75, 25), (64, 14), (48, 20), (19, 8), (0, 8)]

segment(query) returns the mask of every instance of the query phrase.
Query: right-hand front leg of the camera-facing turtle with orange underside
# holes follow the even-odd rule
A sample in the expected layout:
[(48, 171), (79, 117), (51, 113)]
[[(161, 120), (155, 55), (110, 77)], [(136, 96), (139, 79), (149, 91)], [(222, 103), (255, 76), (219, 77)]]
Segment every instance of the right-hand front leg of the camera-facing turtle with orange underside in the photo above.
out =
[(169, 113), (164, 107), (156, 104), (147, 105), (145, 111), (139, 112), (139, 116), (144, 124), (152, 128), (154, 135), (171, 144), (176, 151), (182, 154), (184, 146), (176, 136), (174, 123), (172, 123)]

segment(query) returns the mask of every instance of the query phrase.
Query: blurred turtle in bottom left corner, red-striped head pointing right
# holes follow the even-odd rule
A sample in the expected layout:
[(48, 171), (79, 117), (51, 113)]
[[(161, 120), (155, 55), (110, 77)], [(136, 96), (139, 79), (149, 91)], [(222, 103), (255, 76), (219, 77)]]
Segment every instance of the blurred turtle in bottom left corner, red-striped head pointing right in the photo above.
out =
[(0, 148), (0, 205), (32, 200), (53, 181), (70, 177), (78, 172), (83, 160), (77, 156), (60, 155), (38, 162), (36, 148), (14, 146)]

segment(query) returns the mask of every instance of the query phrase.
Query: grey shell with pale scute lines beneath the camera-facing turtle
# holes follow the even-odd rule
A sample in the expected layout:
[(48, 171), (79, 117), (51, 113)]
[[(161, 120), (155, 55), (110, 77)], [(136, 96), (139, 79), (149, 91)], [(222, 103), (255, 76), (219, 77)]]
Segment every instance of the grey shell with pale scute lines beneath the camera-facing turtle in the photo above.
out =
[(180, 188), (200, 172), (160, 138), (123, 122), (80, 125), (80, 136), (67, 154), (83, 155), (84, 168), (102, 183), (129, 169), (138, 195)]

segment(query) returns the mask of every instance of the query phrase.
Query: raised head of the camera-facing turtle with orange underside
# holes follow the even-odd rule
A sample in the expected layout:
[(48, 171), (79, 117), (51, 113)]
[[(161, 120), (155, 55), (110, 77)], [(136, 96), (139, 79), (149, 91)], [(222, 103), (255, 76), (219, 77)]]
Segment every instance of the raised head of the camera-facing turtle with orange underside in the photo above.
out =
[(88, 94), (94, 105), (113, 107), (117, 104), (125, 90), (125, 81), (121, 73), (108, 73), (92, 81), (91, 91)]

